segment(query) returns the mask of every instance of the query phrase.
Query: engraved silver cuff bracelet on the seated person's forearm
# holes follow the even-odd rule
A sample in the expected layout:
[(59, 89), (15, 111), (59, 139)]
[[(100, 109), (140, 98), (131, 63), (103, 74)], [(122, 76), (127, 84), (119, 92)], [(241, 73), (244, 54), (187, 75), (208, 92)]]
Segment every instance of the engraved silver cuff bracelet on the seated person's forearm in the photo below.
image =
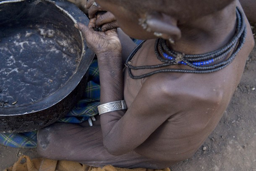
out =
[(116, 110), (125, 110), (125, 109), (127, 109), (127, 107), (124, 100), (113, 101), (113, 102), (101, 104), (98, 106), (99, 115), (103, 113), (108, 113)]

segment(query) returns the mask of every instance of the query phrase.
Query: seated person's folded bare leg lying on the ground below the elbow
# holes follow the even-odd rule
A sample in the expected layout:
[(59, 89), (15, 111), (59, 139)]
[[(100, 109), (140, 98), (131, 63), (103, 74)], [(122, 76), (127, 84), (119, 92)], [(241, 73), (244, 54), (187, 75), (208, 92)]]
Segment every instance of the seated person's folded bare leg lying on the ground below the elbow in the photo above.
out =
[(76, 161), (95, 167), (113, 165), (125, 168), (161, 168), (153, 164), (152, 159), (135, 152), (121, 156), (109, 154), (103, 146), (102, 130), (98, 124), (93, 127), (66, 123), (50, 125), (38, 131), (37, 151), (42, 157)]

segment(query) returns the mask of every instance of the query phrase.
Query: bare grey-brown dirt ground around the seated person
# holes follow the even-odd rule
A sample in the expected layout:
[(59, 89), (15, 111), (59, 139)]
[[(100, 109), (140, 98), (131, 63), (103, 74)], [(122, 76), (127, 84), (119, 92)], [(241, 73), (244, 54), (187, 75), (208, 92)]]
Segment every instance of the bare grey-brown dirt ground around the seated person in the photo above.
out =
[[(0, 170), (21, 155), (38, 157), (35, 149), (0, 145)], [(191, 159), (172, 171), (256, 171), (256, 46), (241, 83), (218, 126)]]

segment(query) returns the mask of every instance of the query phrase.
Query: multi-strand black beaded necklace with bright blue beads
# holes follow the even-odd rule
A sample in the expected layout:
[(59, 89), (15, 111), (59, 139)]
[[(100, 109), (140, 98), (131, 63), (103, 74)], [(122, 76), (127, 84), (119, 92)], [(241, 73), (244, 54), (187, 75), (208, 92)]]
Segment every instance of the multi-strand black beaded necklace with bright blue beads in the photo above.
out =
[[(158, 65), (150, 65), (150, 66), (138, 66), (134, 67), (131, 65), (131, 59), (134, 57), (134, 55), (138, 52), (138, 50), (141, 48), (143, 43), (145, 41), (142, 41), (129, 55), (127, 61), (125, 62), (125, 66), (128, 68), (128, 74), (133, 79), (140, 79), (145, 78), (150, 75), (160, 73), (160, 72), (180, 72), (180, 73), (210, 73), (210, 72), (216, 72), (218, 70), (221, 70), (225, 67), (227, 67), (236, 57), (238, 52), (241, 50), (241, 48), (244, 45), (247, 30), (246, 30), (246, 24), (244, 20), (244, 16), (241, 13), (240, 9), (236, 7), (236, 32), (233, 38), (229, 43), (227, 43), (224, 47), (204, 53), (204, 54), (198, 54), (198, 55), (186, 55), (181, 52), (174, 51), (172, 49), (169, 49), (169, 47), (166, 44), (166, 40), (163, 40), (162, 38), (158, 38), (155, 41), (154, 45), (154, 52), (157, 56), (157, 59), (162, 61), (163, 64)], [(233, 50), (234, 49), (234, 50)], [(232, 54), (229, 58), (227, 58), (225, 61), (223, 60), (231, 51), (233, 50)], [(168, 54), (167, 54), (167, 53)], [(161, 53), (161, 55), (160, 55)], [(218, 63), (212, 64), (213, 62), (220, 61)], [(176, 65), (176, 64), (184, 64), (192, 68), (192, 70), (183, 70), (183, 69), (160, 69), (155, 70), (153, 72), (148, 72), (143, 75), (134, 76), (131, 73), (131, 70), (143, 70), (143, 69), (155, 69), (155, 68), (161, 68), (166, 67), (170, 65)], [(212, 64), (212, 65), (209, 65)]]

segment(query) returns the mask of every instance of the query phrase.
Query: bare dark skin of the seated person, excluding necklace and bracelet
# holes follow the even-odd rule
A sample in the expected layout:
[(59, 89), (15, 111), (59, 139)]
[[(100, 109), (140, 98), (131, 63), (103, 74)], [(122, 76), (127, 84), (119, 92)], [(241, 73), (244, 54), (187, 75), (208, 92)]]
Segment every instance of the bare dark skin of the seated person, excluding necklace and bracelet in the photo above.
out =
[[(153, 32), (138, 24), (143, 12), (106, 0), (97, 0), (116, 16), (118, 25), (129, 36), (152, 39), (145, 42), (131, 61), (134, 66), (160, 64), (154, 54), (154, 31), (173, 38), (170, 48), (201, 54), (224, 46), (236, 25), (234, 1), (218, 12), (191, 15), (191, 22), (172, 15), (153, 15)], [(223, 1), (222, 1), (223, 2)], [(132, 1), (131, 1), (132, 3)], [(151, 10), (148, 6), (148, 10)], [(198, 5), (198, 8), (203, 8)], [(198, 14), (196, 14), (198, 15)], [(166, 22), (168, 21), (168, 22)], [(228, 23), (228, 24), (227, 24)], [(246, 42), (236, 59), (226, 68), (209, 74), (159, 73), (132, 79), (122, 72), (122, 47), (114, 29), (95, 32), (79, 23), (76, 26), (96, 53), (101, 82), (101, 104), (125, 99), (128, 110), (100, 116), (100, 123), (53, 124), (38, 132), (38, 153), (51, 159), (73, 160), (92, 166), (113, 165), (125, 168), (166, 168), (191, 157), (216, 127), (241, 79), (247, 57), (254, 46), (247, 22)], [(170, 32), (171, 28), (172, 32)], [(228, 57), (228, 56), (227, 56)], [(168, 68), (186, 69), (184, 65)], [(152, 70), (150, 70), (152, 71)], [(145, 70), (133, 71), (134, 75)], [(98, 118), (99, 121), (99, 118)]]

